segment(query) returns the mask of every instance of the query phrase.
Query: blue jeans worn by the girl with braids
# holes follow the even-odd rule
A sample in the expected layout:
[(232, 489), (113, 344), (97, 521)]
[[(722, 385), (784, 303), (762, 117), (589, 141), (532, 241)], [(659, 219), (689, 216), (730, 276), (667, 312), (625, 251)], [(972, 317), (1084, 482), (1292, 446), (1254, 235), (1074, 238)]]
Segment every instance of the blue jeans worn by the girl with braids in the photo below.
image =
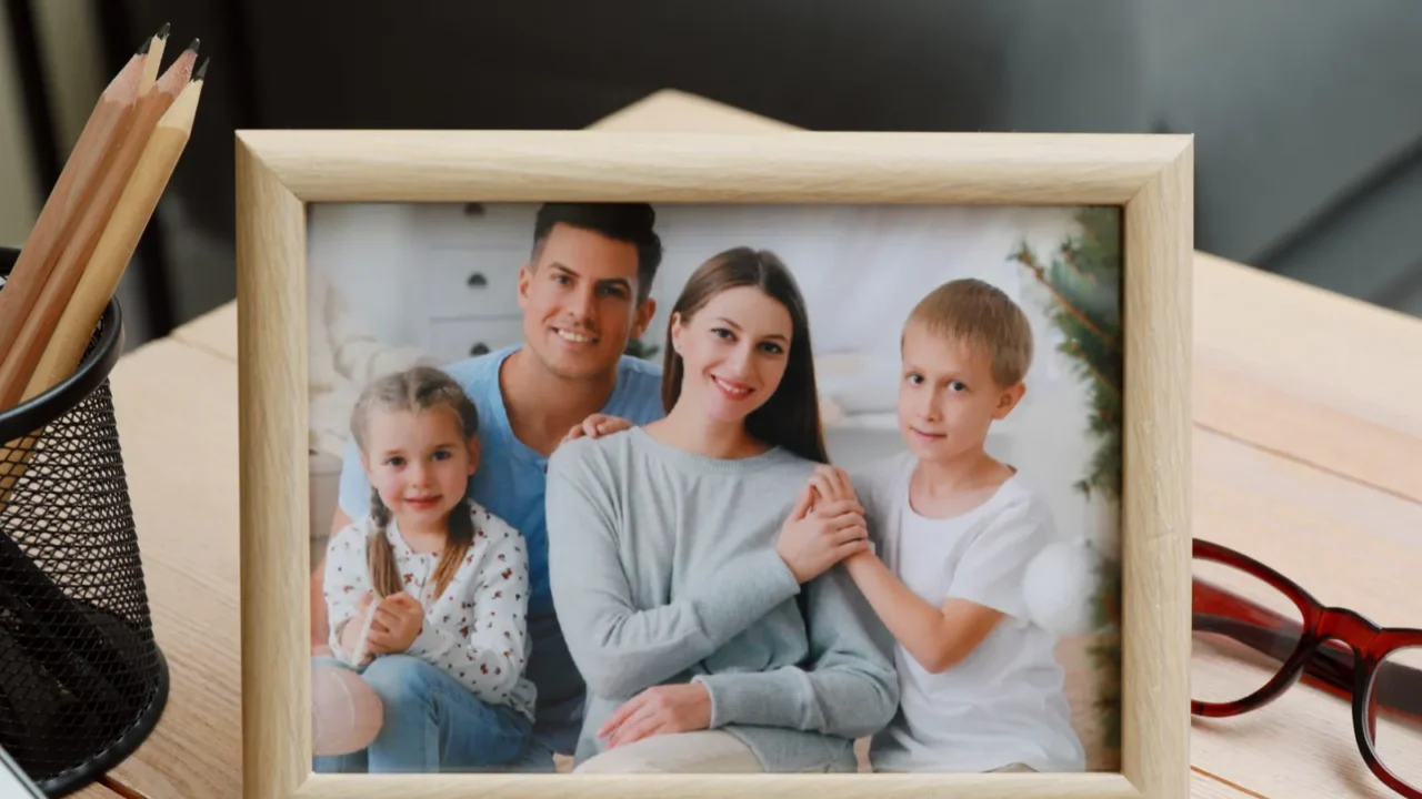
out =
[(533, 741), (528, 718), (513, 708), (482, 702), (454, 677), (417, 657), (384, 655), (365, 667), (316, 660), (364, 677), (384, 705), (384, 722), (365, 749), (313, 758), (313, 771), (553, 771), (553, 755)]

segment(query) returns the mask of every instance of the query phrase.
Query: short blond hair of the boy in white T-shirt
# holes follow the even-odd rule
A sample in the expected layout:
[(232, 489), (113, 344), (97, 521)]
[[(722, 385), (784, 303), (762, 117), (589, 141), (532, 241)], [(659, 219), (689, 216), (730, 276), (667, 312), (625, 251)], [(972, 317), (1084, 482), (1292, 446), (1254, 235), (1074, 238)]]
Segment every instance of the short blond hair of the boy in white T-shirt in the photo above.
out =
[(950, 280), (929, 291), (909, 314), (944, 338), (977, 347), (993, 358), (993, 380), (1017, 385), (1032, 365), (1032, 326), (1005, 291), (975, 277)]

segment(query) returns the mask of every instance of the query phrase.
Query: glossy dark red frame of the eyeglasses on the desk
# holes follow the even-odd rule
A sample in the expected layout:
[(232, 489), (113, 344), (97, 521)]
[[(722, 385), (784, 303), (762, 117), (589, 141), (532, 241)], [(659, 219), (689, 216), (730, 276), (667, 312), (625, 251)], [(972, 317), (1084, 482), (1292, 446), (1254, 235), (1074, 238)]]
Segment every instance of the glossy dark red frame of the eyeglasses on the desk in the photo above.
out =
[[(1305, 680), (1352, 701), (1354, 738), (1364, 762), (1388, 788), (1406, 799), (1422, 799), (1422, 789), (1406, 785), (1382, 765), (1372, 744), (1379, 705), (1385, 712), (1422, 722), (1422, 671), (1382, 663), (1395, 650), (1422, 647), (1422, 630), (1379, 627), (1357, 611), (1325, 606), (1258, 560), (1213, 542), (1194, 539), (1194, 557), (1223, 563), (1268, 583), (1293, 600), (1304, 621), (1300, 628), (1297, 621), (1196, 577), (1192, 591), (1194, 630), (1234, 638), (1283, 665), (1253, 694), (1233, 702), (1190, 699), (1190, 712), (1209, 718), (1240, 715), (1273, 702), (1298, 680)], [(1369, 702), (1368, 691), (1378, 690), (1379, 667), (1386, 675), (1384, 694)]]

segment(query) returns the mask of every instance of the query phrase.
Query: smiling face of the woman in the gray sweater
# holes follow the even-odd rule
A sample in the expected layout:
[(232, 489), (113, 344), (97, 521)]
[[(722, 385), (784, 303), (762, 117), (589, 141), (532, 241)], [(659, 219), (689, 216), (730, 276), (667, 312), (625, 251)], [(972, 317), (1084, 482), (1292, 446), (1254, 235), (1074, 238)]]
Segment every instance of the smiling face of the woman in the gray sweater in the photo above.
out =
[(683, 324), (671, 341), (681, 354), (681, 400), (721, 421), (741, 421), (775, 394), (789, 363), (789, 310), (754, 286), (727, 289)]

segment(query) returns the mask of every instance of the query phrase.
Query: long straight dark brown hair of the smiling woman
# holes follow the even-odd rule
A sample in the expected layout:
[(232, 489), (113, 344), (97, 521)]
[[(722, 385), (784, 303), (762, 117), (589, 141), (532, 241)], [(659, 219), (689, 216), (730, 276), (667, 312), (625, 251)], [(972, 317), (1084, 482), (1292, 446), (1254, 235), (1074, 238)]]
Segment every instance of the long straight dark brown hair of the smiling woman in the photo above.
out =
[[(809, 340), (809, 314), (799, 286), (785, 263), (769, 250), (734, 247), (712, 256), (687, 280), (671, 311), (691, 321), (712, 297), (728, 289), (754, 286), (785, 306), (791, 314), (791, 347), (775, 394), (745, 418), (748, 434), (769, 445), (828, 463), (825, 436), (819, 421), (819, 394), (815, 390), (815, 357)], [(670, 314), (668, 314), (670, 318)], [(685, 367), (673, 347), (671, 323), (667, 324), (667, 350), (661, 377), (661, 404), (665, 411), (681, 397)]]

